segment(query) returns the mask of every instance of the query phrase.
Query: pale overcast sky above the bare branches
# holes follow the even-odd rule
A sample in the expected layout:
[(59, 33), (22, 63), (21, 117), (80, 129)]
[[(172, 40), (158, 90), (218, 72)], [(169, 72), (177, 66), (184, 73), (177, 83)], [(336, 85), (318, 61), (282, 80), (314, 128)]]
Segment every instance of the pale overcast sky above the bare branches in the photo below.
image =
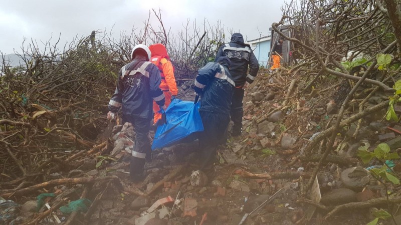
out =
[[(284, 0), (0, 0), (0, 51), (18, 51), (24, 37), (48, 40), (61, 33), (65, 43), (92, 30), (113, 27), (118, 34), (142, 27), (151, 8), (162, 10), (163, 23), (178, 30), (187, 18), (210, 23), (220, 20), (227, 28), (254, 39), (267, 35), (281, 18)], [(153, 18), (154, 20), (154, 18)], [(259, 28), (259, 31), (258, 31)]]

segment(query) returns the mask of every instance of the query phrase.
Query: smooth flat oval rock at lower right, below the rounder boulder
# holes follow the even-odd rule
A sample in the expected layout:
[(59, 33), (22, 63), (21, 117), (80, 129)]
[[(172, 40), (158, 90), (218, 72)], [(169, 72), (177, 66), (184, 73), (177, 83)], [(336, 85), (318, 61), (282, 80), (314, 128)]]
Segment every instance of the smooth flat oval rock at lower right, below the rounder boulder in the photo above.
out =
[(353, 201), (356, 201), (356, 192), (348, 188), (334, 189), (320, 199), (320, 203), (323, 204), (344, 204)]

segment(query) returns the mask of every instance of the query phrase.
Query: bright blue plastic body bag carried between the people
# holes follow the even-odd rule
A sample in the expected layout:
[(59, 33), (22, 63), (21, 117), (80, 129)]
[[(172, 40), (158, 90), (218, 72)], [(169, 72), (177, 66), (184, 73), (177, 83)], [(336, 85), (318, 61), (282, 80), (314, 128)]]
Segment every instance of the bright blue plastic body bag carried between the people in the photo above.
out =
[(165, 111), (167, 124), (159, 125), (154, 134), (152, 150), (168, 147), (173, 144), (191, 141), (196, 138), (185, 138), (199, 131), (204, 131), (199, 114), (200, 103), (173, 99)]

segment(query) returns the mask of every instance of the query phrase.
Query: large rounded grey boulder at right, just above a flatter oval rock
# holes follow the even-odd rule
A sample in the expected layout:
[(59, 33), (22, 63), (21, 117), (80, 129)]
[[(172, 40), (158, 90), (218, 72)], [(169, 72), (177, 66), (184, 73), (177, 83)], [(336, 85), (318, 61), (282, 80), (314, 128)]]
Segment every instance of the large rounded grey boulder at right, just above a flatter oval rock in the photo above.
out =
[(342, 171), (340, 180), (344, 186), (360, 191), (369, 183), (370, 178), (365, 168), (357, 166)]

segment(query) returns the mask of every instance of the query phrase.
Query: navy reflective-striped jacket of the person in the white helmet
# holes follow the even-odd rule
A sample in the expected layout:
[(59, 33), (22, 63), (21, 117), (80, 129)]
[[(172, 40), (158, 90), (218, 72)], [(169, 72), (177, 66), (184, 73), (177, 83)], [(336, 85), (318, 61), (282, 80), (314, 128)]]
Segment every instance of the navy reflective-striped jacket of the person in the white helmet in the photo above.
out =
[(108, 104), (109, 110), (117, 112), (122, 105), (123, 117), (152, 117), (152, 99), (164, 105), (164, 94), (159, 88), (161, 76), (157, 66), (146, 58), (137, 56), (124, 65), (119, 73), (117, 87)]

